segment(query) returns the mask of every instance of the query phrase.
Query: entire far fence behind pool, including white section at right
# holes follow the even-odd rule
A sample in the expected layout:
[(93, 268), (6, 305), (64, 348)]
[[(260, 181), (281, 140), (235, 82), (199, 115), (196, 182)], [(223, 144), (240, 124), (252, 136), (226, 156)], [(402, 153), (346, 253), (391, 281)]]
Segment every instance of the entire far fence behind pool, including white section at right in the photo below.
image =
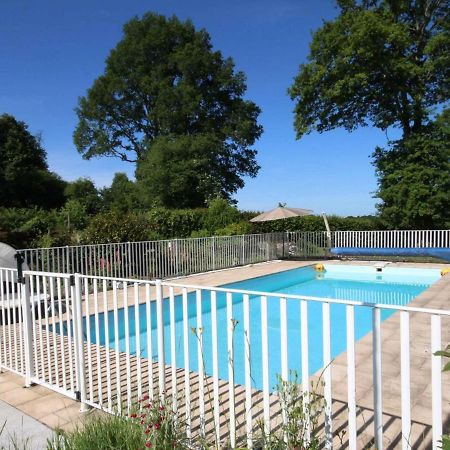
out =
[(450, 230), (295, 231), (20, 250), (30, 269), (165, 279), (337, 248), (449, 248)]

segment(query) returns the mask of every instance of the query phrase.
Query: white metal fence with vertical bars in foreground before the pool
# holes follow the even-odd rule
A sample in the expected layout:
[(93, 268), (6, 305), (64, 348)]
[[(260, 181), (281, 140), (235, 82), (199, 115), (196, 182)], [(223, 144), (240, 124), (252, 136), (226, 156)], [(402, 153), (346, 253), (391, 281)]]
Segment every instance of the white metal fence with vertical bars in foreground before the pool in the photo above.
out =
[[(305, 393), (309, 377), (322, 372), (327, 448), (336, 439), (332, 405), (343, 384), (351, 449), (359, 446), (364, 408), (373, 411), (372, 436), (383, 448), (384, 398), (398, 405), (391, 414), (401, 421), (401, 446), (412, 448), (417, 375), (432, 399), (420, 420), (432, 429), (433, 448), (450, 413), (441, 357), (433, 355), (450, 338), (449, 310), (79, 274), (25, 271), (18, 280), (16, 271), (0, 269), (0, 276), (0, 367), (24, 375), (26, 385), (48, 386), (83, 405), (113, 411), (144, 394), (159, 395), (173, 401), (188, 433), (226, 436), (232, 447), (243, 439), (251, 448), (258, 423), (266, 431), (273, 426), (276, 375), (288, 380), (296, 370)], [(382, 347), (381, 322), (392, 313), (399, 317), (398, 333)], [(420, 338), (410, 331), (418, 320), (427, 330)], [(367, 386), (367, 372), (358, 373), (364, 363), (357, 361), (358, 340), (370, 332), (372, 400), (361, 406), (357, 393), (359, 383)], [(400, 373), (389, 391), (385, 352), (398, 354)], [(419, 374), (413, 371), (417, 355), (424, 360)], [(334, 375), (335, 357), (344, 358), (344, 374)]]

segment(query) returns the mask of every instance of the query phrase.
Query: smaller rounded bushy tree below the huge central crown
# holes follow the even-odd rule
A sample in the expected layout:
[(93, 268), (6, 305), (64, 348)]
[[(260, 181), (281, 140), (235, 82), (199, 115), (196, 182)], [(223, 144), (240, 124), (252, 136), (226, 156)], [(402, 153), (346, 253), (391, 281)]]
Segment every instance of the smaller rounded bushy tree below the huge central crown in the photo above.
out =
[(148, 206), (205, 207), (215, 197), (230, 199), (256, 173), (253, 151), (233, 155), (210, 134), (161, 137), (137, 165), (136, 178)]

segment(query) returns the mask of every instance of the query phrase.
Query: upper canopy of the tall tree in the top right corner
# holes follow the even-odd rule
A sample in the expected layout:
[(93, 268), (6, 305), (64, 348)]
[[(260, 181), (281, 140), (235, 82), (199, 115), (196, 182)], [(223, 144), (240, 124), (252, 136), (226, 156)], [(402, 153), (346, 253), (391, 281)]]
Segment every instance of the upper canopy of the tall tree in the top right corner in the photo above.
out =
[(449, 99), (449, 0), (338, 4), (289, 89), (297, 136), (368, 124), (420, 130)]

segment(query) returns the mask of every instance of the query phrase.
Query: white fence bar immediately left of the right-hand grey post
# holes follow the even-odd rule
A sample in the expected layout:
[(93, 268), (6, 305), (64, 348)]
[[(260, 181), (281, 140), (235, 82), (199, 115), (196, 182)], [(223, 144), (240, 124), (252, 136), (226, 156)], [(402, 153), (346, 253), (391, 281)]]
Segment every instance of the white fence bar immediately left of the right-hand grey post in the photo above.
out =
[(346, 306), (347, 318), (347, 404), (348, 447), (356, 450), (356, 391), (355, 391), (355, 311)]

